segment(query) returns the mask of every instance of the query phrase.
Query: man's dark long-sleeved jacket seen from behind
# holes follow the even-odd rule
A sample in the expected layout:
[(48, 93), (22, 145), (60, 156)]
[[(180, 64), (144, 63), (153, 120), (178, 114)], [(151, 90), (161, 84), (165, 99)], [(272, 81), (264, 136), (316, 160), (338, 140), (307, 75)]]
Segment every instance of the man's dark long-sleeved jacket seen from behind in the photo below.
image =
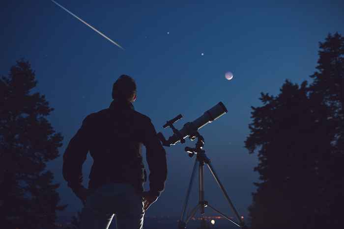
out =
[(63, 154), (63, 178), (73, 190), (82, 185), (82, 165), (90, 152), (93, 165), (88, 189), (109, 183), (130, 183), (143, 191), (142, 161), (146, 147), (149, 186), (159, 196), (167, 177), (166, 153), (150, 119), (135, 111), (131, 102), (113, 101), (108, 109), (88, 115)]

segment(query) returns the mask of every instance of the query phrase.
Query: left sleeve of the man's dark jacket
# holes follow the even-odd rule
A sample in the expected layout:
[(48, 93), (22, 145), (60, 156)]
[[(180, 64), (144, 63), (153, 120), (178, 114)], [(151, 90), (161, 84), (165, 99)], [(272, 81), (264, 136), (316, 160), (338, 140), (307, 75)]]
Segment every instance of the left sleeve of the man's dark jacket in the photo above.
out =
[(82, 127), (70, 140), (63, 154), (63, 178), (73, 191), (80, 188), (83, 183), (82, 167), (89, 150), (89, 117), (90, 115), (84, 119)]

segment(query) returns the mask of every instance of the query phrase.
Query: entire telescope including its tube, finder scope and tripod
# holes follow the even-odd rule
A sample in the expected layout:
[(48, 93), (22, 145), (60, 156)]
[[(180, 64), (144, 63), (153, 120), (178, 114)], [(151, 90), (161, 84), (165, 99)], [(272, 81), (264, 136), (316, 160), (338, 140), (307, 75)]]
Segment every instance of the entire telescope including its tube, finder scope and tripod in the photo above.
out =
[[(207, 157), (205, 154), (204, 150), (204, 138), (203, 136), (198, 132), (199, 129), (207, 125), (208, 123), (211, 123), (215, 121), (216, 119), (220, 118), (222, 115), (226, 114), (228, 111), (226, 109), (226, 106), (222, 103), (219, 102), (209, 110), (205, 111), (204, 114), (202, 114), (199, 118), (194, 120), (193, 122), (186, 123), (183, 128), (180, 130), (177, 130), (173, 124), (180, 120), (183, 116), (181, 114), (177, 115), (175, 118), (169, 120), (166, 122), (166, 124), (163, 126), (164, 128), (171, 127), (173, 131), (173, 135), (169, 137), (169, 139), (165, 139), (164, 135), (159, 132), (158, 137), (161, 141), (161, 143), (164, 146), (170, 147), (171, 145), (175, 145), (176, 143), (185, 143), (185, 138), (189, 137), (191, 141), (195, 140), (196, 138), (197, 143), (195, 148), (191, 147), (185, 147), (185, 152), (189, 153), (190, 157), (193, 157), (196, 155), (196, 160), (194, 164), (194, 169), (192, 170), (192, 175), (190, 178), (190, 183), (188, 187), (188, 191), (186, 193), (185, 201), (183, 204), (183, 209), (182, 209), (182, 214), (180, 217), (180, 220), (178, 221), (178, 229), (186, 229), (187, 223), (190, 221), (192, 217), (196, 214), (198, 210), (201, 211), (201, 228), (202, 225), (205, 225), (205, 217), (204, 217), (204, 210), (205, 207), (211, 208), (213, 211), (217, 212), (218, 214), (222, 215), (225, 219), (229, 220), (231, 223), (233, 223), (235, 226), (241, 228), (241, 229), (246, 229), (247, 227), (245, 226), (245, 222), (243, 221), (243, 218), (239, 216), (239, 213), (235, 209), (233, 203), (229, 199), (228, 193), (221, 183), (219, 177), (217, 176), (214, 167), (211, 164), (210, 159)], [(235, 222), (232, 220), (229, 216), (226, 214), (222, 213), (212, 205), (208, 203), (208, 201), (205, 200), (204, 198), (204, 165), (206, 165), (211, 174), (213, 175), (214, 179), (216, 180), (217, 184), (219, 185), (222, 193), (225, 196), (225, 199), (228, 201), (228, 204), (232, 211), (234, 212), (237, 221)], [(196, 171), (198, 170), (199, 176), (199, 202), (198, 204), (191, 210), (191, 212), (187, 213), (187, 207), (188, 207), (188, 202), (189, 202), (189, 197), (191, 193), (191, 188), (193, 186), (194, 179), (196, 177)]]

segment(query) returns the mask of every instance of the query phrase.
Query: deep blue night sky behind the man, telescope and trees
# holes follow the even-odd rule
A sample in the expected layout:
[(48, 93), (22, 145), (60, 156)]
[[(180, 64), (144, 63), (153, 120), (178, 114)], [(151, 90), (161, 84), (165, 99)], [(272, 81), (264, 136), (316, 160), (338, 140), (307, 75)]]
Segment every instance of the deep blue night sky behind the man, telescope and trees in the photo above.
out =
[[(36, 71), (36, 90), (55, 108), (48, 119), (64, 136), (60, 157), (48, 164), (61, 184), (60, 204), (69, 204), (61, 214), (73, 214), (82, 206), (62, 178), (66, 145), (86, 115), (110, 105), (114, 81), (126, 74), (137, 82), (135, 109), (149, 116), (166, 137), (172, 131), (162, 126), (176, 115), (183, 115), (175, 125), (181, 128), (216, 103), (226, 105), (229, 112), (200, 132), (229, 197), (246, 217), (253, 182), (258, 181), (253, 171), (257, 154), (244, 148), (251, 106), (261, 104), (260, 92), (278, 94), (285, 79), (310, 80), (318, 42), (329, 32), (344, 34), (340, 0), (57, 2), (124, 48), (50, 0), (1, 1), (0, 74), (7, 75), (19, 58), (29, 60)], [(227, 71), (234, 75), (230, 81), (225, 78)], [(166, 148), (166, 189), (148, 216), (179, 217), (195, 159), (184, 147), (195, 143), (187, 140)], [(85, 185), (91, 164), (88, 154)], [(207, 168), (205, 175), (206, 199), (233, 215)], [(197, 203), (196, 184), (190, 206)], [(210, 209), (207, 212), (213, 215)]]

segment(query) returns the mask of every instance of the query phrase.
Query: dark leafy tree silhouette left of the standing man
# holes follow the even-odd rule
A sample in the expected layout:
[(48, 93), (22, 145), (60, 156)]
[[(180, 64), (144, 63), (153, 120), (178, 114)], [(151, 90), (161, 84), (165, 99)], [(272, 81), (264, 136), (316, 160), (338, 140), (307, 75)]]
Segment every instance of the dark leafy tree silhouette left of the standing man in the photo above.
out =
[(29, 62), (17, 61), (0, 79), (1, 228), (53, 229), (59, 195), (46, 162), (59, 156), (62, 136), (46, 117), (54, 109), (36, 86)]

